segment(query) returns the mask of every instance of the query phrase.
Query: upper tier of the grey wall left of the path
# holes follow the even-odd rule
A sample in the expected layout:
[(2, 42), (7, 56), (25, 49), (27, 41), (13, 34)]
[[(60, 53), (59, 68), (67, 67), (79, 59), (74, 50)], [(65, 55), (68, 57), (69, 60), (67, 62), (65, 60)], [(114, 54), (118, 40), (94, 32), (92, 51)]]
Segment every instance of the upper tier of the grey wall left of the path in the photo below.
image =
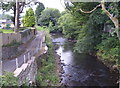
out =
[(13, 41), (26, 43), (35, 36), (35, 33), (35, 29), (26, 29), (20, 33), (0, 33), (0, 36), (2, 36), (2, 38), (0, 38), (0, 43), (2, 46), (10, 44)]

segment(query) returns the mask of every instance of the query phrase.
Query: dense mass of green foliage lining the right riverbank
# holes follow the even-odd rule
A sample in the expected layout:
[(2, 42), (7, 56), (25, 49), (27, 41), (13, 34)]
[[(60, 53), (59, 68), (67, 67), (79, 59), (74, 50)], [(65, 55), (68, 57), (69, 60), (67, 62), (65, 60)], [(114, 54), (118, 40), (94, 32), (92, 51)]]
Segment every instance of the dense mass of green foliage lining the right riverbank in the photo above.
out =
[[(78, 11), (80, 8), (84, 12), (91, 11), (98, 5), (97, 2), (71, 3), (72, 5), (66, 4), (69, 13), (64, 13), (59, 18), (58, 27), (67, 38), (77, 40), (74, 50), (79, 53), (93, 55), (97, 53), (102, 60), (112, 63), (112, 66), (117, 65), (119, 67), (120, 40), (117, 30), (114, 29), (113, 21), (101, 8), (96, 9), (91, 14)], [(110, 6), (113, 6), (113, 8), (109, 8)], [(118, 3), (106, 3), (106, 7), (115, 16), (118, 16), (118, 10), (120, 9)], [(111, 28), (107, 26), (111, 26)]]

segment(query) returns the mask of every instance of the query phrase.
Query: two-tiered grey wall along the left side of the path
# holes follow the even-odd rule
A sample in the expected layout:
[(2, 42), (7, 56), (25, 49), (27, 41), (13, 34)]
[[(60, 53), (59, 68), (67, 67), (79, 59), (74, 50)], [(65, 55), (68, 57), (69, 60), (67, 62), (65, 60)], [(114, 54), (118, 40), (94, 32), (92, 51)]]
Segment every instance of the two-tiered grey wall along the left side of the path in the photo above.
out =
[[(1, 44), (1, 58), (2, 59), (11, 59), (19, 55), (21, 52), (25, 51), (24, 43), (27, 43), (30, 39), (35, 37), (36, 30), (35, 29), (27, 29), (20, 33), (0, 33), (0, 44)], [(18, 43), (23, 43), (18, 46), (7, 46), (11, 44), (13, 41)]]

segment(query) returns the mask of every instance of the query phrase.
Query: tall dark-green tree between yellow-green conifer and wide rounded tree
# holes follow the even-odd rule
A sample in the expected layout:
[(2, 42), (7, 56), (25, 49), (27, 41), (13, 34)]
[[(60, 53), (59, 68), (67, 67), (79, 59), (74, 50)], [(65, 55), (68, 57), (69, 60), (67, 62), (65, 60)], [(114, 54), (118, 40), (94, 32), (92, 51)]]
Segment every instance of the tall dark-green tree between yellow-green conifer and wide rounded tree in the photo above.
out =
[(38, 19), (40, 18), (41, 12), (45, 9), (43, 3), (39, 3), (36, 10), (35, 10), (35, 16), (36, 16), (36, 23), (38, 24)]

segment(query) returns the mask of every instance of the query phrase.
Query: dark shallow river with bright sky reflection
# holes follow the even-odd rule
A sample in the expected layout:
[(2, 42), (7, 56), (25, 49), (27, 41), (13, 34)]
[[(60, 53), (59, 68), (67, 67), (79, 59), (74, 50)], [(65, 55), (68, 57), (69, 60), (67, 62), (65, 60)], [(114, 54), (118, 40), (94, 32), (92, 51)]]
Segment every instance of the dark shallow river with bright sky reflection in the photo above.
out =
[(62, 83), (67, 86), (112, 86), (118, 87), (118, 75), (111, 72), (96, 57), (73, 52), (73, 43), (61, 34), (52, 34), (52, 41), (57, 45), (56, 52), (63, 63)]

